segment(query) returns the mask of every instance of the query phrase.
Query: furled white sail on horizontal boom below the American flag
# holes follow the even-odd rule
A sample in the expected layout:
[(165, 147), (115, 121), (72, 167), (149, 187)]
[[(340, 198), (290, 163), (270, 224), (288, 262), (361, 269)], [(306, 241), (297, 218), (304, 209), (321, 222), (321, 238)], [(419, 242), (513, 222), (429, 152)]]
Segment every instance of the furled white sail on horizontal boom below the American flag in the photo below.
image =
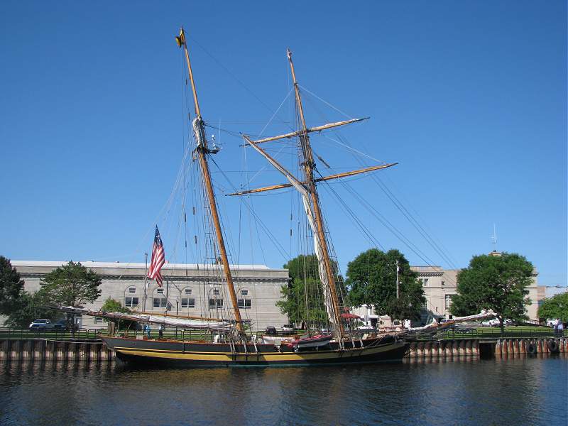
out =
[(148, 322), (150, 324), (163, 324), (170, 327), (180, 327), (187, 329), (231, 329), (233, 322), (226, 320), (209, 320), (209, 319), (185, 319), (176, 317), (167, 317), (162, 315), (152, 315), (152, 314), (138, 314), (135, 312), (104, 312), (89, 310), (84, 307), (71, 307), (62, 306), (58, 308), (63, 312), (67, 312), (75, 315), (87, 315), (89, 317), (102, 317), (108, 318), (109, 320), (128, 320), (128, 321), (139, 321)]

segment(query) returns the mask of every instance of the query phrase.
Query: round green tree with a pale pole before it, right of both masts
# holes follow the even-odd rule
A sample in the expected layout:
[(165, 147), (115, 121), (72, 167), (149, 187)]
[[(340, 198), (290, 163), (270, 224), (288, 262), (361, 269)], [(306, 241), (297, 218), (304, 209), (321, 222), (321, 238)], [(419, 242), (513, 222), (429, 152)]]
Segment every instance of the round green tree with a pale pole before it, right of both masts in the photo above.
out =
[[(396, 297), (398, 261), (398, 299)], [(417, 274), (398, 250), (369, 249), (347, 265), (346, 286), (355, 306), (372, 304), (377, 315), (417, 320), (426, 302)]]

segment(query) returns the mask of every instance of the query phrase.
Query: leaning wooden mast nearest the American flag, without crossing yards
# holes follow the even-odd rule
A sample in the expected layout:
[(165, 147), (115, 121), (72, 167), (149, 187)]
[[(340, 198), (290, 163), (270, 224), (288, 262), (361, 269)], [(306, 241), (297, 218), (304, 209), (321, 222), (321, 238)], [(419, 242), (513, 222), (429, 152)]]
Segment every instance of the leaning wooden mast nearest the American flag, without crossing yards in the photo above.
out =
[(190, 54), (187, 51), (187, 43), (185, 42), (185, 31), (183, 28), (180, 30), (180, 35), (175, 38), (178, 42), (178, 46), (182, 47), (185, 52), (185, 60), (187, 62), (187, 71), (190, 75), (191, 88), (193, 91), (193, 101), (195, 104), (195, 115), (196, 118), (193, 121), (193, 131), (195, 133), (195, 138), (197, 139), (197, 154), (199, 156), (203, 182), (205, 185), (205, 191), (207, 192), (207, 200), (209, 201), (209, 209), (211, 209), (211, 217), (213, 219), (213, 224), (215, 227), (215, 234), (217, 234), (217, 244), (219, 245), (219, 254), (221, 255), (221, 261), (223, 264), (223, 270), (225, 273), (226, 284), (229, 288), (229, 294), (231, 295), (231, 302), (233, 304), (233, 310), (236, 321), (236, 329), (239, 334), (244, 335), (243, 320), (241, 319), (241, 312), (239, 311), (239, 305), (236, 301), (235, 287), (233, 283), (233, 277), (231, 276), (231, 269), (229, 268), (229, 259), (226, 256), (225, 242), (223, 239), (223, 233), (221, 230), (221, 223), (219, 222), (219, 213), (217, 212), (217, 202), (215, 202), (215, 193), (213, 191), (213, 185), (211, 182), (211, 175), (209, 174), (209, 164), (207, 163), (207, 154), (211, 151), (207, 148), (207, 138), (205, 138), (205, 129), (203, 120), (201, 118), (200, 104), (197, 101), (197, 90), (195, 89), (195, 81), (193, 80), (193, 72), (191, 70)]

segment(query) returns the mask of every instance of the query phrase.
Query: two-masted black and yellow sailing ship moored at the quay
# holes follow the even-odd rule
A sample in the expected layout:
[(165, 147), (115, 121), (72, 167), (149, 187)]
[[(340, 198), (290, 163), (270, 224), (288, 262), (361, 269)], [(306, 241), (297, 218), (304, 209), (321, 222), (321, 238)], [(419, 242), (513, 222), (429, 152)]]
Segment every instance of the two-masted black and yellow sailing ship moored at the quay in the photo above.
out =
[[(76, 312), (99, 317), (135, 320), (148, 324), (160, 324), (185, 329), (201, 329), (214, 331), (213, 342), (196, 341), (191, 339), (151, 339), (144, 337), (102, 336), (104, 343), (116, 352), (116, 356), (124, 361), (146, 362), (150, 364), (181, 364), (183, 366), (283, 366), (283, 365), (312, 365), (312, 364), (351, 364), (380, 361), (400, 361), (407, 349), (407, 344), (396, 335), (368, 337), (356, 332), (358, 317), (349, 312), (345, 289), (337, 272), (336, 262), (330, 253), (330, 243), (327, 239), (327, 229), (324, 222), (320, 197), (317, 192), (318, 182), (345, 178), (347, 176), (368, 173), (374, 170), (390, 167), (393, 164), (375, 165), (361, 170), (337, 173), (329, 176), (315, 175), (315, 160), (310, 133), (332, 129), (346, 124), (361, 121), (350, 119), (322, 126), (307, 127), (302, 97), (296, 80), (292, 53), (287, 51), (290, 72), (293, 79), (293, 93), (297, 111), (299, 129), (280, 136), (253, 140), (250, 136), (242, 136), (246, 146), (266, 158), (275, 170), (278, 170), (287, 183), (261, 187), (255, 190), (235, 192), (231, 195), (246, 195), (256, 192), (277, 190), (292, 187), (300, 195), (302, 209), (307, 219), (307, 228), (313, 239), (313, 254), (317, 259), (318, 285), (321, 285), (321, 305), (327, 317), (326, 328), (310, 329), (307, 334), (296, 336), (289, 341), (273, 337), (257, 337), (250, 331), (250, 320), (243, 318), (239, 310), (234, 273), (229, 266), (226, 249), (226, 236), (222, 229), (219, 215), (219, 205), (209, 170), (211, 156), (217, 153), (217, 147), (207, 141), (205, 123), (202, 119), (200, 104), (197, 97), (195, 79), (192, 72), (190, 55), (187, 50), (187, 39), (182, 28), (176, 37), (178, 46), (182, 48), (187, 72), (192, 90), (195, 117), (191, 120), (191, 129), (195, 141), (192, 151), (193, 160), (199, 165), (199, 178), (202, 185), (202, 200), (205, 204), (205, 214), (209, 229), (209, 249), (214, 251), (214, 262), (211, 271), (219, 274), (219, 280), (229, 293), (231, 306), (227, 307), (226, 317), (206, 316), (175, 316), (156, 315), (146, 312), (121, 314), (117, 312), (88, 312), (69, 308), (68, 312)], [(263, 144), (280, 141), (297, 141), (299, 150), (299, 165), (301, 175), (295, 176), (268, 154)], [(306, 304), (308, 308), (308, 304)]]

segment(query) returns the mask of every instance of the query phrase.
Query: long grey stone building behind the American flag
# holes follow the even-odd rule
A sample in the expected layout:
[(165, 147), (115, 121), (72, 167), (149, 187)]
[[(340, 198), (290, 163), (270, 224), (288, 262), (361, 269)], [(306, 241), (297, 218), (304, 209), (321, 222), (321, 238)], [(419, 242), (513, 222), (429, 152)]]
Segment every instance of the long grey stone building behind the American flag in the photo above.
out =
[[(40, 279), (66, 262), (11, 261), (24, 280), (29, 292), (38, 290)], [(101, 296), (85, 307), (97, 310), (111, 297), (121, 305), (138, 312), (168, 313), (169, 315), (197, 315), (226, 317), (231, 300), (226, 284), (220, 278), (221, 267), (195, 264), (166, 263), (162, 268), (163, 286), (155, 281), (145, 285), (144, 263), (82, 262), (102, 278)], [(287, 269), (271, 269), (264, 265), (231, 266), (236, 297), (244, 320), (251, 320), (253, 329), (271, 325), (282, 327), (288, 317), (275, 303), (280, 300), (280, 288), (288, 284)], [(100, 318), (84, 317), (82, 328), (102, 328)]]

